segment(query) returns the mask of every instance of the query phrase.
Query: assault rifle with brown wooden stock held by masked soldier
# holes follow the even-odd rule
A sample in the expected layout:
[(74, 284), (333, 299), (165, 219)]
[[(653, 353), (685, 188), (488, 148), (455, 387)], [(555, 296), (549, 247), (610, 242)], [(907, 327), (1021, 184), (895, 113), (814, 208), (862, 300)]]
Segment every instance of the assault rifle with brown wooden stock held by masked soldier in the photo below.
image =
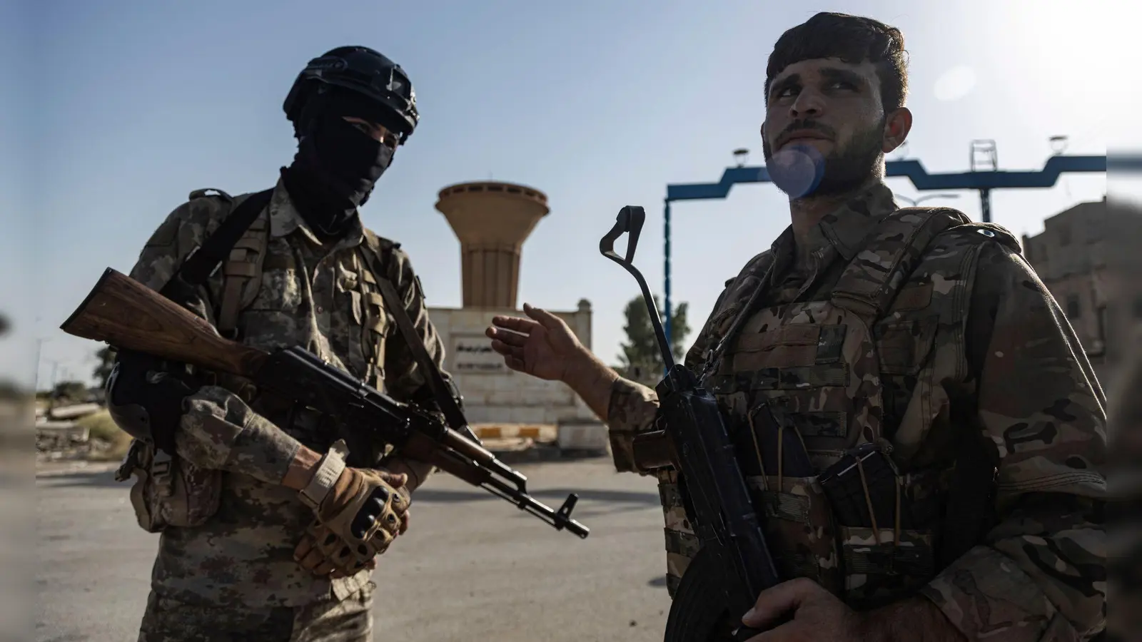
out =
[(226, 339), (203, 319), (110, 267), (61, 329), (119, 350), (244, 377), (259, 390), (313, 408), (343, 425), (372, 431), (402, 455), (483, 488), (556, 530), (566, 529), (580, 538), (590, 532), (571, 519), (577, 495), (570, 493), (558, 511), (531, 497), (528, 478), (484, 449), (463, 416), (452, 412), (449, 427), (435, 415), (392, 399), (301, 346), (267, 353)]

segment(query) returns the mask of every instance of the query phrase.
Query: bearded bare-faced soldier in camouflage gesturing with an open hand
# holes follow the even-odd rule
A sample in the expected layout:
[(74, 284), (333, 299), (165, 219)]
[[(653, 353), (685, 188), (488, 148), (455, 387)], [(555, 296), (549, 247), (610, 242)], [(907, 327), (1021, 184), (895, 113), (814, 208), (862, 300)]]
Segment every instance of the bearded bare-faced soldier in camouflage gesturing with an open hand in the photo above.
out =
[[(903, 38), (872, 19), (818, 14), (769, 59), (762, 139), (791, 224), (685, 358), (785, 580), (745, 620), (773, 641), (1087, 640), (1105, 617), (1103, 393), (1011, 233), (893, 202), (906, 88)], [(619, 471), (657, 475), (674, 604), (703, 597), (683, 579), (700, 551), (684, 484), (633, 455), (654, 391), (524, 311), (493, 320), (493, 348), (571, 386)]]

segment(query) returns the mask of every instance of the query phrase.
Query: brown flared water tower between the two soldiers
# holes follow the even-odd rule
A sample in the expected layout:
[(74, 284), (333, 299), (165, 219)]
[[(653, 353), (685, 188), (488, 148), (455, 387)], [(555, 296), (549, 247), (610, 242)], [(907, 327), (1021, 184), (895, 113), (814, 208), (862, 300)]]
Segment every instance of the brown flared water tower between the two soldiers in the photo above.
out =
[(520, 254), (547, 195), (532, 187), (480, 180), (440, 191), (436, 209), (460, 240), (464, 307), (515, 310)]

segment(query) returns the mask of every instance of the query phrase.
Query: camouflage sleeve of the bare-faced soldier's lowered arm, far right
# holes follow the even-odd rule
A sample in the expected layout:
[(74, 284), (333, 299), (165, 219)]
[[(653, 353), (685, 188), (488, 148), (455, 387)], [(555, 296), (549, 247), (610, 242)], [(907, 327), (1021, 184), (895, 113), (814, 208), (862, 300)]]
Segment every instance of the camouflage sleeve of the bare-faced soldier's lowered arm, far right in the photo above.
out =
[(998, 292), (978, 407), (999, 455), (996, 522), (922, 593), (968, 640), (1086, 640), (1105, 620), (1102, 392), (1022, 257), (984, 248), (975, 282)]

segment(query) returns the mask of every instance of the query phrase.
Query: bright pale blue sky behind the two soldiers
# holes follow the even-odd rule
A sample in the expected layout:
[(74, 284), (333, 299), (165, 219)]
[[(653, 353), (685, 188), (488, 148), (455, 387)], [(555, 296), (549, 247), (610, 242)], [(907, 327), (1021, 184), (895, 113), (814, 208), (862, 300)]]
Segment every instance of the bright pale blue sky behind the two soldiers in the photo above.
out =
[[(365, 224), (403, 243), (429, 305), (460, 305), (459, 243), (433, 208), (450, 184), (494, 178), (547, 193), (552, 212), (523, 248), (521, 303), (592, 302), (595, 352), (613, 362), (635, 281), (598, 254), (625, 204), (648, 222), (636, 257), (662, 290), (661, 204), (668, 183), (716, 182), (732, 150), (762, 161), (765, 63), (788, 27), (818, 10), (899, 26), (911, 59), (907, 154), (930, 171), (965, 171), (972, 139), (994, 139), (1003, 169), (1039, 169), (1054, 135), (1067, 153), (1103, 154), (1108, 137), (1142, 149), (1136, 117), (1104, 61), (1132, 47), (1126, 0), (771, 0), (376, 2), (242, 0), (31, 1), (0, 9), (9, 65), (0, 93), (2, 311), (0, 377), (88, 378), (99, 345), (59, 324), (102, 271), (127, 272), (143, 242), (187, 194), (273, 184), (295, 151), (281, 111), (311, 57), (341, 45), (379, 49), (408, 71), (420, 127), (363, 208)], [(924, 8), (920, 8), (923, 6)], [(955, 8), (954, 8), (955, 7)], [(1034, 10), (1023, 10), (1034, 7)], [(1101, 58), (1101, 59), (1100, 59)], [(13, 71), (14, 70), (14, 71)], [(1129, 83), (1126, 91), (1135, 93)], [(919, 195), (907, 179), (890, 185)], [(1102, 175), (1049, 190), (997, 192), (995, 222), (1016, 234), (1077, 202), (1101, 199)], [(979, 219), (979, 196), (928, 201)], [(788, 225), (772, 185), (674, 207), (675, 303), (691, 324), (723, 281)], [(17, 276), (23, 275), (23, 276)], [(690, 337), (692, 339), (692, 336)]]

